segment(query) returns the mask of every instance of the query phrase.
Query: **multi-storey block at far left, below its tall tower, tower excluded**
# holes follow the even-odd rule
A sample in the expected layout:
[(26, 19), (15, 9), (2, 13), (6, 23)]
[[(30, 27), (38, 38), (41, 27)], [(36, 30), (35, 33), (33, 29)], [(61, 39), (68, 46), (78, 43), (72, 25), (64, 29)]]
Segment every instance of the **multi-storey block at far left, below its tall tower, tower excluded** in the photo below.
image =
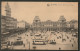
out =
[(1, 16), (1, 32), (10, 32), (17, 28), (17, 19)]

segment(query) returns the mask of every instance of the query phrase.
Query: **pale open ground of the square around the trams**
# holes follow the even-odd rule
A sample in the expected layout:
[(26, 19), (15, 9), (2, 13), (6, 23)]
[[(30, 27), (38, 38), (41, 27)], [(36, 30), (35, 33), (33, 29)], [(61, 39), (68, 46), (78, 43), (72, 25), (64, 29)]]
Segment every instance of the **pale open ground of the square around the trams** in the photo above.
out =
[[(40, 32), (39, 32), (40, 33)], [(48, 35), (50, 32), (46, 32)], [(62, 37), (63, 35), (63, 37)], [(46, 36), (46, 35), (45, 35)], [(11, 46), (11, 49), (26, 49), (26, 50), (33, 50), (34, 46), (36, 47), (37, 50), (77, 50), (78, 46), (78, 38), (73, 37), (72, 34), (65, 33), (65, 32), (60, 32), (60, 33), (52, 33), (52, 35), (48, 36), (47, 39), (49, 40), (55, 40), (56, 44), (50, 44), (47, 43), (46, 45), (33, 45), (33, 37), (31, 36), (31, 32), (26, 31), (25, 33), (22, 34), (16, 34), (15, 36), (12, 35), (10, 37), (7, 37), (5, 40), (10, 41), (10, 42), (15, 42), (17, 41), (18, 37), (21, 37), (20, 41), (23, 41), (24, 45), (18, 45), (18, 46)], [(50, 38), (49, 38), (50, 37)], [(67, 39), (67, 37), (69, 37)], [(62, 41), (62, 39), (65, 39), (65, 41)], [(73, 40), (72, 40), (73, 39)], [(73, 44), (73, 46), (72, 46)]]

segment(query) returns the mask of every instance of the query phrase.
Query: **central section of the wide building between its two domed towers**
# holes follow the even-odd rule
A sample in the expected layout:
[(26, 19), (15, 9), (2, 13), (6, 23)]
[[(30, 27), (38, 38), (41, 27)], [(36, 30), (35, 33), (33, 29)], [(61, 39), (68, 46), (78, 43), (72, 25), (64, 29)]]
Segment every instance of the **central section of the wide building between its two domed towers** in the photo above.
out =
[(41, 22), (41, 30), (42, 31), (54, 31), (54, 30), (58, 30), (57, 29), (57, 22), (53, 22), (51, 20), (47, 20), (44, 22)]

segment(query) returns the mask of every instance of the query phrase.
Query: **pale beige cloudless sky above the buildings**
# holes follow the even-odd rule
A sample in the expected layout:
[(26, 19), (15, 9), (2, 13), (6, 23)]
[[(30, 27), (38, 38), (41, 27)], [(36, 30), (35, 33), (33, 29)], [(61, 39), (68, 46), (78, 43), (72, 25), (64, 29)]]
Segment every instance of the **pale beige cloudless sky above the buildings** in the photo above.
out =
[[(11, 8), (11, 17), (18, 21), (32, 23), (35, 16), (41, 21), (57, 21), (64, 16), (67, 21), (78, 20), (78, 2), (8, 2)], [(1, 14), (6, 15), (5, 5), (1, 3)]]

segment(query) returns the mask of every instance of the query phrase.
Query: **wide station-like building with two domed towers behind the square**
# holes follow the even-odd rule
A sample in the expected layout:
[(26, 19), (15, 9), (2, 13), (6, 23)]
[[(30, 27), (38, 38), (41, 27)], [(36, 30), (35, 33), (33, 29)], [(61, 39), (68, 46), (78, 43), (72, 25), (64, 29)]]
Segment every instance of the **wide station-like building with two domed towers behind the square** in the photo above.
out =
[(70, 25), (72, 24), (68, 23), (64, 16), (60, 16), (58, 21), (55, 22), (51, 20), (41, 21), (39, 16), (36, 16), (33, 20), (31, 28), (32, 31), (67, 31), (71, 27)]

